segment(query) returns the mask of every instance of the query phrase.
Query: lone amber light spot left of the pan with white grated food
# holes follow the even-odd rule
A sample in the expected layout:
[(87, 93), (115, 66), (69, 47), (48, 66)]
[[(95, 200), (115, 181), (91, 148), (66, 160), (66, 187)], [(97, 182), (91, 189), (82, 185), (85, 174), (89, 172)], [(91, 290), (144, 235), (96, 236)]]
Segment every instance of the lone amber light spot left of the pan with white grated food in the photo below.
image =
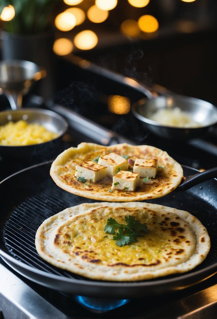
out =
[(108, 97), (108, 110), (115, 114), (127, 114), (130, 111), (130, 101), (121, 95), (110, 95)]

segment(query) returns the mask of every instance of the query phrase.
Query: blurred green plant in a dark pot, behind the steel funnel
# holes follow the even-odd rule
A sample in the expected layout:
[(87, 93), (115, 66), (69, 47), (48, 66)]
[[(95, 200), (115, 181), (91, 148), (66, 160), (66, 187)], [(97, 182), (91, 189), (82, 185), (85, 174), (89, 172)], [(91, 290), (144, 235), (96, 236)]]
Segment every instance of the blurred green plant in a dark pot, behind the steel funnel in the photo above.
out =
[[(51, 97), (53, 93), (54, 32), (52, 11), (60, 0), (0, 0), (0, 13), (12, 5), (15, 16), (10, 21), (1, 21), (1, 53), (3, 60), (27, 60), (42, 65), (47, 77), (40, 86), (46, 89), (41, 94)], [(42, 83), (43, 82), (43, 83)]]

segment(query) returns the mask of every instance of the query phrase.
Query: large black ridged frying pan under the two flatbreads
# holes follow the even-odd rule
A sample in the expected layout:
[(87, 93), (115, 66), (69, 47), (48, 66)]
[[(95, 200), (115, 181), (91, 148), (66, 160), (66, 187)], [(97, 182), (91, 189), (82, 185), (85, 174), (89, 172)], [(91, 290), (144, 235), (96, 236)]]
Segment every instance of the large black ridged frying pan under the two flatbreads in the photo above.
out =
[[(35, 249), (35, 234), (41, 223), (63, 209), (91, 203), (58, 187), (50, 178), (52, 161), (41, 163), (0, 183), (0, 255), (24, 277), (64, 293), (101, 298), (138, 298), (160, 295), (195, 285), (217, 272), (217, 180), (202, 182), (185, 192), (170, 193), (150, 203), (172, 206), (191, 212), (207, 228), (211, 250), (194, 270), (142, 282), (105, 282), (90, 280), (61, 270), (42, 260)], [(197, 173), (183, 167), (185, 176)], [(207, 177), (208, 178), (208, 177)]]

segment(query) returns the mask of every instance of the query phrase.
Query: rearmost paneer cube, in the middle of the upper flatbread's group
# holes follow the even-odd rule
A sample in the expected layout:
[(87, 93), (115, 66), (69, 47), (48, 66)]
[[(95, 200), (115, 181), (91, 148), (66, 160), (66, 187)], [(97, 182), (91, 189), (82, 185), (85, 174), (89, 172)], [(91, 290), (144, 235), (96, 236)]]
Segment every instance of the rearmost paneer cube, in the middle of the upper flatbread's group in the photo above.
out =
[(128, 170), (129, 164), (127, 159), (117, 153), (108, 153), (99, 158), (98, 164), (107, 167), (106, 175), (113, 178), (121, 170)]

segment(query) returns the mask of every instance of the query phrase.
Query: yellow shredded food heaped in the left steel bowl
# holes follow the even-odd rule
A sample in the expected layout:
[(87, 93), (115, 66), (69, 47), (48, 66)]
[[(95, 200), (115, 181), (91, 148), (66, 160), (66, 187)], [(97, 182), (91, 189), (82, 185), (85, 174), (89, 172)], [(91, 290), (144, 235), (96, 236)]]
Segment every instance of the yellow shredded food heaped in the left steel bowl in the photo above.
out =
[(28, 124), (24, 120), (8, 122), (0, 126), (0, 145), (22, 146), (44, 143), (57, 137), (37, 123)]

